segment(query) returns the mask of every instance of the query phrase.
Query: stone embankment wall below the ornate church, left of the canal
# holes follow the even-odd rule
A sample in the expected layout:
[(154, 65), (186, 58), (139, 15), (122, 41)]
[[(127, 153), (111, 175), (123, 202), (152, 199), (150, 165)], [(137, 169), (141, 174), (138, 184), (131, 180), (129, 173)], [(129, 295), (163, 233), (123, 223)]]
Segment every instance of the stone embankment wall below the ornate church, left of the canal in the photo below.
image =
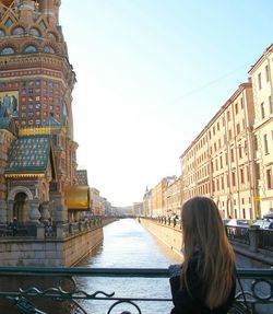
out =
[[(2, 237), (0, 239), (1, 266), (71, 267), (97, 247), (103, 239), (103, 226), (115, 219), (106, 219), (91, 229), (63, 234), (58, 230), (56, 237)], [(40, 236), (41, 237), (41, 236)]]

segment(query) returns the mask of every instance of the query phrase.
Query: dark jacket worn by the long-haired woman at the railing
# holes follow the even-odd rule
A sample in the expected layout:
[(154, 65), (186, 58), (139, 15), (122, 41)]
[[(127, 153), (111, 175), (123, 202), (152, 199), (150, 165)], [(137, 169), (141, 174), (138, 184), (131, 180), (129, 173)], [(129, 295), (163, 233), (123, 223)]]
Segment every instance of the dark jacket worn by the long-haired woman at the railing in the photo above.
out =
[(205, 305), (205, 296), (203, 292), (210, 282), (201, 281), (197, 267), (198, 260), (194, 258), (193, 261), (190, 263), (187, 271), (190, 293), (186, 287), (182, 286), (180, 288), (180, 276), (175, 276), (169, 279), (173, 302), (175, 305), (170, 314), (226, 314), (234, 302), (236, 280), (234, 280), (234, 286), (227, 301), (224, 302), (219, 307), (210, 310)]

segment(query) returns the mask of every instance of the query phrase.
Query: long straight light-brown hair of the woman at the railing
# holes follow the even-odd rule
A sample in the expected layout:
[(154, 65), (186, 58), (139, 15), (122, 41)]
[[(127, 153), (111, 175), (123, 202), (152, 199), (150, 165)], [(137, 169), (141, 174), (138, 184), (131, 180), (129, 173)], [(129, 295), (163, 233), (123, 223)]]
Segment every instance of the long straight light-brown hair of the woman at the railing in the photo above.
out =
[(183, 205), (182, 233), (185, 260), (181, 282), (189, 290), (187, 270), (198, 255), (197, 271), (204, 282), (205, 303), (215, 309), (227, 300), (234, 284), (235, 255), (212, 199), (194, 197)]

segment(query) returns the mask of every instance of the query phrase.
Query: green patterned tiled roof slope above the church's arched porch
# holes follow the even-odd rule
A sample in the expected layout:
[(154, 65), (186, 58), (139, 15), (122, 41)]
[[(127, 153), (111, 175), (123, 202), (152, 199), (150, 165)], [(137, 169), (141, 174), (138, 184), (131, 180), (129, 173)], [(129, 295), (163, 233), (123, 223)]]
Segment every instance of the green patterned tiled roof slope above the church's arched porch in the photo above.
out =
[(47, 168), (50, 152), (48, 136), (19, 138), (12, 146), (7, 174), (40, 173)]

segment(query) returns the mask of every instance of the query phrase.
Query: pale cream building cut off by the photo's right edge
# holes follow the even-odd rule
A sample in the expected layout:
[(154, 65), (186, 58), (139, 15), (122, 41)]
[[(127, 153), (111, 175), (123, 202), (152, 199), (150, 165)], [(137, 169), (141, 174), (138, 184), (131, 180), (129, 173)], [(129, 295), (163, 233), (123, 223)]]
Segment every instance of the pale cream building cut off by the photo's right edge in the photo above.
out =
[(273, 45), (251, 67), (259, 216), (273, 210)]

